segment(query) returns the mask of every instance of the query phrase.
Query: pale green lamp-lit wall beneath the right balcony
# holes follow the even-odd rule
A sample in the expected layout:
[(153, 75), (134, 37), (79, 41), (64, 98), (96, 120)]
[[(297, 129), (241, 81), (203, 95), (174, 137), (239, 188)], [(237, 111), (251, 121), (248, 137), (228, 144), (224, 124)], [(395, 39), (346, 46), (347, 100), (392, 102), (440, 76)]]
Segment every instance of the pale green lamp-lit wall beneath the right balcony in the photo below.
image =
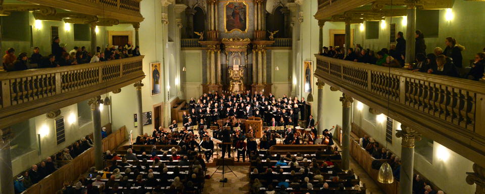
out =
[[(379, 123), (369, 122), (367, 118), (372, 116), (365, 116), (365, 114), (371, 114), (368, 112), (368, 106), (364, 105), (362, 110), (358, 110), (356, 107), (357, 101), (353, 104), (353, 119), (352, 122), (356, 123), (365, 132), (367, 132), (372, 138), (379, 143), (387, 146), (387, 149), (391, 150), (394, 154), (401, 157), (401, 139), (396, 137), (396, 130), (400, 130), (401, 124), (394, 121), (393, 128), (393, 143), (385, 144), (385, 122)], [(373, 116), (375, 117), (375, 116)], [(432, 137), (428, 137), (431, 138)], [(440, 159), (444, 153), (449, 154), (447, 160)], [(423, 156), (419, 154), (414, 155), (414, 169), (421, 173), (428, 180), (440, 187), (445, 193), (474, 193), (475, 185), (469, 185), (465, 182), (466, 172), (472, 172), (473, 162), (460, 156), (459, 154), (444, 148), (438, 142), (433, 143), (433, 160), (429, 163)], [(450, 178), (453, 177), (453, 178)]]

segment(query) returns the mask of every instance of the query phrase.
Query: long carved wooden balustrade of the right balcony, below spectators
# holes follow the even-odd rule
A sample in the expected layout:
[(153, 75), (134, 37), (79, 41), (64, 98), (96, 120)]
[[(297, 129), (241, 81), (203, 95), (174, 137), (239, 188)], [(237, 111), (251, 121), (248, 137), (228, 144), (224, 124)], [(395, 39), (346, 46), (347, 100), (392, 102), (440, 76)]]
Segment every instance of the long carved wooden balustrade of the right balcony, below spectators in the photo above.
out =
[(484, 83), (315, 56), (319, 81), (485, 163)]

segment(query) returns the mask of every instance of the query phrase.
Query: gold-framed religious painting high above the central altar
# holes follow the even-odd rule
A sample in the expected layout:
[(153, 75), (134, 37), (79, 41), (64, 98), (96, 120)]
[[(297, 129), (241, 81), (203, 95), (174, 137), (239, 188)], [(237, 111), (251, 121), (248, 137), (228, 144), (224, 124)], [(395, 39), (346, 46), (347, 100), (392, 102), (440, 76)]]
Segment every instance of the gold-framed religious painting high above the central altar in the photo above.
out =
[(244, 1), (227, 1), (224, 5), (224, 31), (248, 32), (249, 10)]

